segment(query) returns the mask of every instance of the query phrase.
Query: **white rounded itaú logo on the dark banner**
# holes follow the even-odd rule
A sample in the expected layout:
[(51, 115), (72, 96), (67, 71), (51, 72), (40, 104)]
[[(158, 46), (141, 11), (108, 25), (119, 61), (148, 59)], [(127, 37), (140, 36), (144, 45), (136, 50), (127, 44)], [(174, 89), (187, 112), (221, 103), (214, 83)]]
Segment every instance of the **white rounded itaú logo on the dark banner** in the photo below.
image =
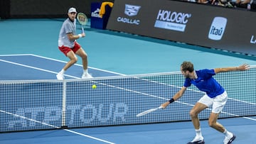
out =
[(208, 33), (208, 38), (211, 40), (221, 40), (225, 32), (225, 27), (227, 25), (228, 19), (223, 17), (213, 18), (213, 22), (210, 26), (210, 31)]

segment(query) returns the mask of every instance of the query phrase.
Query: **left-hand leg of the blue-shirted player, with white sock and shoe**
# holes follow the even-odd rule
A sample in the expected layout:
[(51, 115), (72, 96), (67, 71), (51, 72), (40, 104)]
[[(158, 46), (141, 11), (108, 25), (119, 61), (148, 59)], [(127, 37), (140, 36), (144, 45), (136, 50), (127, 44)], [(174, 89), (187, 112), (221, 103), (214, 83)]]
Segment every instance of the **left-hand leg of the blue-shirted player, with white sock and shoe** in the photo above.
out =
[(201, 102), (197, 102), (196, 105), (193, 106), (193, 109), (191, 109), (190, 116), (191, 116), (191, 121), (192, 121), (193, 126), (196, 131), (196, 137), (193, 140), (191, 140), (191, 142), (189, 142), (188, 144), (192, 144), (192, 143), (203, 144), (204, 143), (203, 135), (201, 133), (200, 121), (198, 118), (198, 114), (201, 111), (203, 111), (204, 109), (206, 109), (207, 107), (208, 106), (206, 106), (205, 104), (202, 104)]

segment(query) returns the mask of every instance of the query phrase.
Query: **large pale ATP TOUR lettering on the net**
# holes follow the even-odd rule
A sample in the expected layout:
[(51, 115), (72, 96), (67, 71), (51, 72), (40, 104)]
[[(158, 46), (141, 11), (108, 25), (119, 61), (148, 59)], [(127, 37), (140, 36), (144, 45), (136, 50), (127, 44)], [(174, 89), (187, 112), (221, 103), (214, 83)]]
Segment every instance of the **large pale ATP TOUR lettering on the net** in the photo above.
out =
[[(68, 113), (68, 125), (74, 123), (75, 118), (79, 118), (82, 123), (92, 123), (92, 121), (100, 121), (100, 123), (106, 123), (112, 118), (113, 122), (125, 121), (125, 115), (128, 112), (128, 106), (126, 104), (110, 104), (105, 106), (100, 104), (98, 108), (91, 104), (86, 106), (67, 106), (66, 113)], [(88, 113), (91, 113), (88, 115)], [(42, 123), (52, 123), (60, 121), (62, 118), (62, 109), (58, 106), (48, 107), (36, 107), (36, 108), (24, 108), (17, 109), (16, 116), (12, 121), (8, 122), (8, 128), (14, 128), (15, 126), (34, 127), (36, 121), (42, 121)], [(20, 116), (20, 117), (18, 117)], [(67, 115), (66, 115), (67, 116)], [(31, 121), (36, 120), (36, 121)]]

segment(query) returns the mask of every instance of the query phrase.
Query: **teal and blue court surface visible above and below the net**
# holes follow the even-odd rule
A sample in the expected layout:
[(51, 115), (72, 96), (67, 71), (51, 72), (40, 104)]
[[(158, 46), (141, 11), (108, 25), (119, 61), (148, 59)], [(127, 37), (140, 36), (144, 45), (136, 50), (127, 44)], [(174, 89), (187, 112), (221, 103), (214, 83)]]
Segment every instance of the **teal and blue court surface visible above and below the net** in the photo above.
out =
[[(0, 80), (56, 79), (55, 75), (68, 61), (58, 51), (57, 45), (62, 22), (51, 19), (0, 21), (0, 31), (5, 33), (0, 36), (5, 41), (0, 48)], [(87, 37), (79, 43), (89, 55), (89, 73), (93, 77), (175, 72), (179, 71), (183, 60), (192, 61), (196, 69), (242, 63), (256, 65), (255, 57), (247, 55), (95, 30), (90, 26), (85, 31)], [(66, 79), (79, 79), (81, 75), (80, 61), (65, 72)], [(171, 114), (170, 107), (164, 111)], [(235, 133), (237, 138), (233, 143), (256, 143), (256, 116), (224, 118), (219, 122)], [(224, 135), (210, 128), (208, 121), (201, 121), (201, 130), (207, 144), (223, 143)], [(193, 125), (187, 121), (0, 133), (0, 143), (182, 144), (188, 143), (194, 136)]]

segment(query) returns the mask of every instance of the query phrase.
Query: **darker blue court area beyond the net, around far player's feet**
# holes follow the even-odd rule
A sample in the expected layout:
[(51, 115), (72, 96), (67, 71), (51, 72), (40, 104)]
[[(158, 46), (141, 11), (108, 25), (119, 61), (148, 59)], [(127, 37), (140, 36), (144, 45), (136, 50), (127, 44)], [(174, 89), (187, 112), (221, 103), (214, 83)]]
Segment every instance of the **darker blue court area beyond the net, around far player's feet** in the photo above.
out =
[[(0, 57), (1, 66), (6, 67), (0, 74), (0, 80), (56, 79), (56, 74), (66, 63), (38, 55), (1, 55)], [(13, 70), (18, 70), (18, 72), (10, 74)], [(89, 71), (93, 74), (93, 77), (121, 75), (96, 68), (89, 68)], [(66, 79), (78, 79), (81, 76), (82, 67), (77, 64), (65, 73)]]

